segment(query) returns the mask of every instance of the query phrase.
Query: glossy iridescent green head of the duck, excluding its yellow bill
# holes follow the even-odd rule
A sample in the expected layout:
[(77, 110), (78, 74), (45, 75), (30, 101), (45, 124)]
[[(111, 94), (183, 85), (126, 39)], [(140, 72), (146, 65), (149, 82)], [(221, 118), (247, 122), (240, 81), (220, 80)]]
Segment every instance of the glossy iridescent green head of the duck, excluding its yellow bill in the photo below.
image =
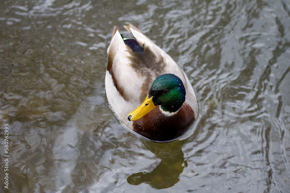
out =
[(161, 105), (161, 109), (175, 112), (185, 101), (183, 82), (174, 74), (163, 74), (152, 83), (148, 98), (152, 98), (154, 105)]

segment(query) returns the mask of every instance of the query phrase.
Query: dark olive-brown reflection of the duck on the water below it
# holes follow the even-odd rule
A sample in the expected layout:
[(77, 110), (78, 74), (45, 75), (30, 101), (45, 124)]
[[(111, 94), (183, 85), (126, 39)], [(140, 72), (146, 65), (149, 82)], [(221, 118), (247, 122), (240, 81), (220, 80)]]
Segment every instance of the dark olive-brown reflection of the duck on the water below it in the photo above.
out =
[(127, 178), (131, 185), (147, 183), (153, 188), (162, 189), (172, 187), (179, 181), (179, 175), (187, 166), (181, 150), (185, 140), (175, 140), (169, 143), (154, 143), (142, 139), (143, 144), (161, 161), (152, 172), (138, 172)]

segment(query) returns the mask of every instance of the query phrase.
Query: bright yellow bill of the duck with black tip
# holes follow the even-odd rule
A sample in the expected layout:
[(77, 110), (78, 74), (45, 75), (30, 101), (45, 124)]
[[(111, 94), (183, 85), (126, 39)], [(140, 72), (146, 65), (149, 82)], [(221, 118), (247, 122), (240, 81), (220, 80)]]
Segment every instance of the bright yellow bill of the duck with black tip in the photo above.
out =
[(146, 99), (144, 100), (144, 102), (134, 111), (132, 111), (129, 115), (128, 115), (128, 120), (129, 121), (136, 121), (141, 119), (144, 115), (146, 115), (147, 113), (149, 113), (150, 111), (152, 111), (156, 105), (154, 105), (152, 98), (148, 98), (148, 95), (146, 97)]

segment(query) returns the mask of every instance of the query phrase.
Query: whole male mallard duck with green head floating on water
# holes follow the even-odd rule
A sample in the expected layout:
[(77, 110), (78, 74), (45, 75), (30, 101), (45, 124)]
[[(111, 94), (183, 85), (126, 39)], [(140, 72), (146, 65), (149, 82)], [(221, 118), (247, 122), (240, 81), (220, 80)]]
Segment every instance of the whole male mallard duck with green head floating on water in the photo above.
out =
[(131, 131), (151, 141), (172, 141), (197, 116), (191, 84), (175, 61), (137, 27), (124, 28), (135, 38), (122, 38), (119, 29), (113, 29), (106, 72), (108, 102)]

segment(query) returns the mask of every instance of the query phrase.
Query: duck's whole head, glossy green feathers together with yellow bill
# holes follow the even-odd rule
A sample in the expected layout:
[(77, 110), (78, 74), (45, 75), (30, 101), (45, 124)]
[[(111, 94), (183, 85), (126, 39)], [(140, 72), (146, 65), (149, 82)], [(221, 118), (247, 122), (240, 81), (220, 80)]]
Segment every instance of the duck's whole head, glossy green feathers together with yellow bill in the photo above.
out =
[(154, 80), (145, 101), (127, 118), (129, 121), (139, 120), (157, 105), (169, 115), (180, 109), (185, 101), (185, 94), (180, 78), (174, 74), (163, 74)]

